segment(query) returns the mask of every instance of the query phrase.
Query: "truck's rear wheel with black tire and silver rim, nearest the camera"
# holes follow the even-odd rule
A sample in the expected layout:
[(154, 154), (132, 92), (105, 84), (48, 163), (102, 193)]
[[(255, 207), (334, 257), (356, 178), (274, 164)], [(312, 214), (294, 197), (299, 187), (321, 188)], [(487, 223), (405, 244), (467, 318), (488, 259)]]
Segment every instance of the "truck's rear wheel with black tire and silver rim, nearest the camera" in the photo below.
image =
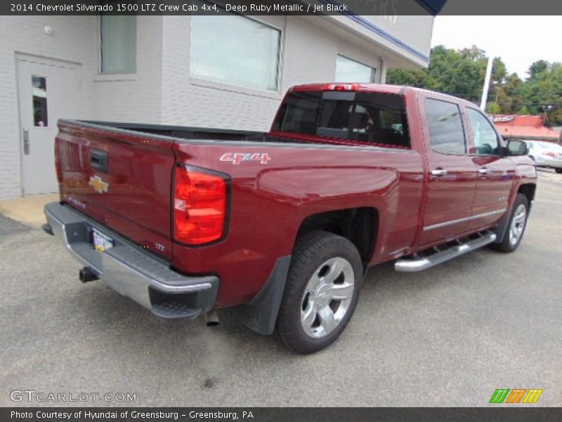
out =
[(293, 352), (318, 352), (346, 328), (359, 300), (362, 263), (346, 238), (314, 231), (297, 241), (276, 332)]

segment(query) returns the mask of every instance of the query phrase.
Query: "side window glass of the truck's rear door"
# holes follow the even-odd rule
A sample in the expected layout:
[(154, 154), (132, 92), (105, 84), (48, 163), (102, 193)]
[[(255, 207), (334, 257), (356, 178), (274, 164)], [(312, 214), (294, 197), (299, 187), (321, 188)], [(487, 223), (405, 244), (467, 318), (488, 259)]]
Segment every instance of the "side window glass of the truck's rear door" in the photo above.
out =
[(466, 154), (466, 139), (459, 106), (446, 101), (426, 99), (431, 149), (445, 154)]

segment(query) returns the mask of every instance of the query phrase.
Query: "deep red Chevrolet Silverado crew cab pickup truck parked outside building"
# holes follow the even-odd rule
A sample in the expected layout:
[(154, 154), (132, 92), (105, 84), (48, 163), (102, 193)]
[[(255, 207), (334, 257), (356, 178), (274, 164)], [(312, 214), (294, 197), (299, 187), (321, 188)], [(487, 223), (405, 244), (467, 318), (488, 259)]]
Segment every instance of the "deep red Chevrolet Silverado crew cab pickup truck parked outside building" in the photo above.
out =
[(332, 343), (367, 268), (521, 242), (537, 174), (472, 103), (377, 84), (287, 92), (270, 132), (60, 120), (44, 229), (164, 318), (235, 306), (290, 349)]

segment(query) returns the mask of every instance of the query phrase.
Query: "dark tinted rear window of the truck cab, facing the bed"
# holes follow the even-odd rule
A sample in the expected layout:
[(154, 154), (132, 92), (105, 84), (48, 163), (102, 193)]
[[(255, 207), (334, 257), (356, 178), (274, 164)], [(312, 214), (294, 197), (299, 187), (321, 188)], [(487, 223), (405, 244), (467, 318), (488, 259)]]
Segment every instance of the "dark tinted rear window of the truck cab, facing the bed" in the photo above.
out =
[(404, 98), (348, 91), (293, 92), (273, 129), (278, 132), (410, 146)]

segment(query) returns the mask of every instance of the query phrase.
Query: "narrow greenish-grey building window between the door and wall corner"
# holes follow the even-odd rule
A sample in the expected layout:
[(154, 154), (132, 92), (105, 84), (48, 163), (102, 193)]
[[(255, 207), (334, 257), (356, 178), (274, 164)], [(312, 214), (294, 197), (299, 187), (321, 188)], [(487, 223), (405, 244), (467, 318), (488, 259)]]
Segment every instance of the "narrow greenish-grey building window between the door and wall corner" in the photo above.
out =
[(136, 72), (136, 16), (100, 15), (102, 73)]

